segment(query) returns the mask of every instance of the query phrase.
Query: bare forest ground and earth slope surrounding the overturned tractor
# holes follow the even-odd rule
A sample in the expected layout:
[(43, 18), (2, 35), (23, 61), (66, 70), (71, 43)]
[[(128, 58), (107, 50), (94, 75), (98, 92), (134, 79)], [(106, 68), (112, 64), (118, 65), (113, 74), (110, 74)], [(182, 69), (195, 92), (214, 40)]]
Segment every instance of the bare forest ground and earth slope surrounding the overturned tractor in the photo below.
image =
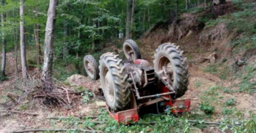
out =
[[(115, 52), (124, 58), (123, 41), (123, 38), (110, 40), (100, 45), (100, 51), (93, 55), (98, 60), (102, 53)], [(193, 7), (183, 11), (179, 18), (158, 22), (135, 41), (141, 49), (142, 58), (148, 60), (151, 66), (155, 50), (165, 42), (175, 43), (180, 50), (184, 50), (190, 77), (188, 91), (179, 99), (191, 99), (190, 112), (181, 115), (169, 115), (169, 112), (147, 114), (142, 115), (137, 123), (118, 124), (108, 115), (100, 81), (91, 81), (83, 75), (85, 72), (80, 57), (64, 61), (56, 57), (54, 93), (61, 93), (59, 97), (55, 96), (63, 103), (48, 99), (38, 89), (42, 84), (41, 66), (34, 65), (34, 47), (31, 46), (28, 55), (33, 63), (29, 64), (29, 80), (16, 79), (14, 52), (7, 53), (8, 78), (0, 82), (0, 132), (36, 128), (73, 129), (61, 131), (72, 133), (82, 132), (80, 129), (86, 130), (84, 132), (129, 133), (255, 132), (255, 1), (235, 0), (214, 6)], [(18, 68), (21, 77), (20, 59)], [(6, 96), (8, 92), (19, 97), (18, 103)], [(53, 102), (55, 100), (57, 104)], [(191, 122), (193, 120), (196, 122)]]

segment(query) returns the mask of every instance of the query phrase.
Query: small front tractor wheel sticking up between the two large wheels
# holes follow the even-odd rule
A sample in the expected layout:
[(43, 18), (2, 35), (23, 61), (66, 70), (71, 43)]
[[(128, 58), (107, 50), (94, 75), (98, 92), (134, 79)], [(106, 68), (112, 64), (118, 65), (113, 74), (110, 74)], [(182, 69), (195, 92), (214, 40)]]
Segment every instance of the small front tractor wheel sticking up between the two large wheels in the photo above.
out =
[[(126, 40), (123, 43), (123, 52), (127, 59), (131, 58), (133, 61), (136, 59), (141, 59), (141, 51), (139, 50), (138, 45), (133, 40)], [(131, 52), (131, 57), (129, 52)]]

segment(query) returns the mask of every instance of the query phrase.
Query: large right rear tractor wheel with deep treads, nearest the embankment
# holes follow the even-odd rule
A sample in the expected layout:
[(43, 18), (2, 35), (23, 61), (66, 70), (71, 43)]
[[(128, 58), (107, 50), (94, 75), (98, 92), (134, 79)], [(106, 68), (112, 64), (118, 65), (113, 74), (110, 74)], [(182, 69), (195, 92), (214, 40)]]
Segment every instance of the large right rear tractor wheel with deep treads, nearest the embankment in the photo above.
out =
[(168, 81), (176, 92), (171, 95), (173, 99), (183, 96), (188, 89), (187, 57), (184, 58), (182, 54), (183, 51), (179, 50), (179, 46), (170, 43), (158, 46), (154, 54), (154, 70), (156, 72), (166, 70)]

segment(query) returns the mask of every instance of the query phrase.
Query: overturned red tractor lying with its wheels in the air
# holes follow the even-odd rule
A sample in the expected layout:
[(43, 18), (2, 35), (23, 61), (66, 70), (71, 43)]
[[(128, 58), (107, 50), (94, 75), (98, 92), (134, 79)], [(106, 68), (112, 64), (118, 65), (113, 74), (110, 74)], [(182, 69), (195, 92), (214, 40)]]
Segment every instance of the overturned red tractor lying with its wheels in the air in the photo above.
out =
[(188, 89), (187, 58), (179, 46), (165, 43), (154, 54), (154, 67), (141, 58), (133, 40), (123, 43), (126, 59), (104, 53), (98, 61), (84, 57), (84, 68), (91, 80), (100, 79), (106, 108), (118, 122), (137, 122), (140, 114), (164, 111), (180, 114), (190, 109), (191, 100), (176, 100)]

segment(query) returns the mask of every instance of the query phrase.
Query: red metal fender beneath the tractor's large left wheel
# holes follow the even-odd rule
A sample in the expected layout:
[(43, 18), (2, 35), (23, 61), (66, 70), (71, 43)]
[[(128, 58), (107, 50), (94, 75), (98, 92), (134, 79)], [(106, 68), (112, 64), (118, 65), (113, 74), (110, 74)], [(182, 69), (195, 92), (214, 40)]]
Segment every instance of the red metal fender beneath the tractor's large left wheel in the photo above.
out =
[(111, 112), (107, 105), (106, 105), (106, 108), (111, 118), (113, 118), (114, 120), (117, 120), (118, 123), (129, 124), (129, 122), (138, 122), (139, 120), (139, 114), (138, 114), (137, 108), (129, 109), (121, 112)]

